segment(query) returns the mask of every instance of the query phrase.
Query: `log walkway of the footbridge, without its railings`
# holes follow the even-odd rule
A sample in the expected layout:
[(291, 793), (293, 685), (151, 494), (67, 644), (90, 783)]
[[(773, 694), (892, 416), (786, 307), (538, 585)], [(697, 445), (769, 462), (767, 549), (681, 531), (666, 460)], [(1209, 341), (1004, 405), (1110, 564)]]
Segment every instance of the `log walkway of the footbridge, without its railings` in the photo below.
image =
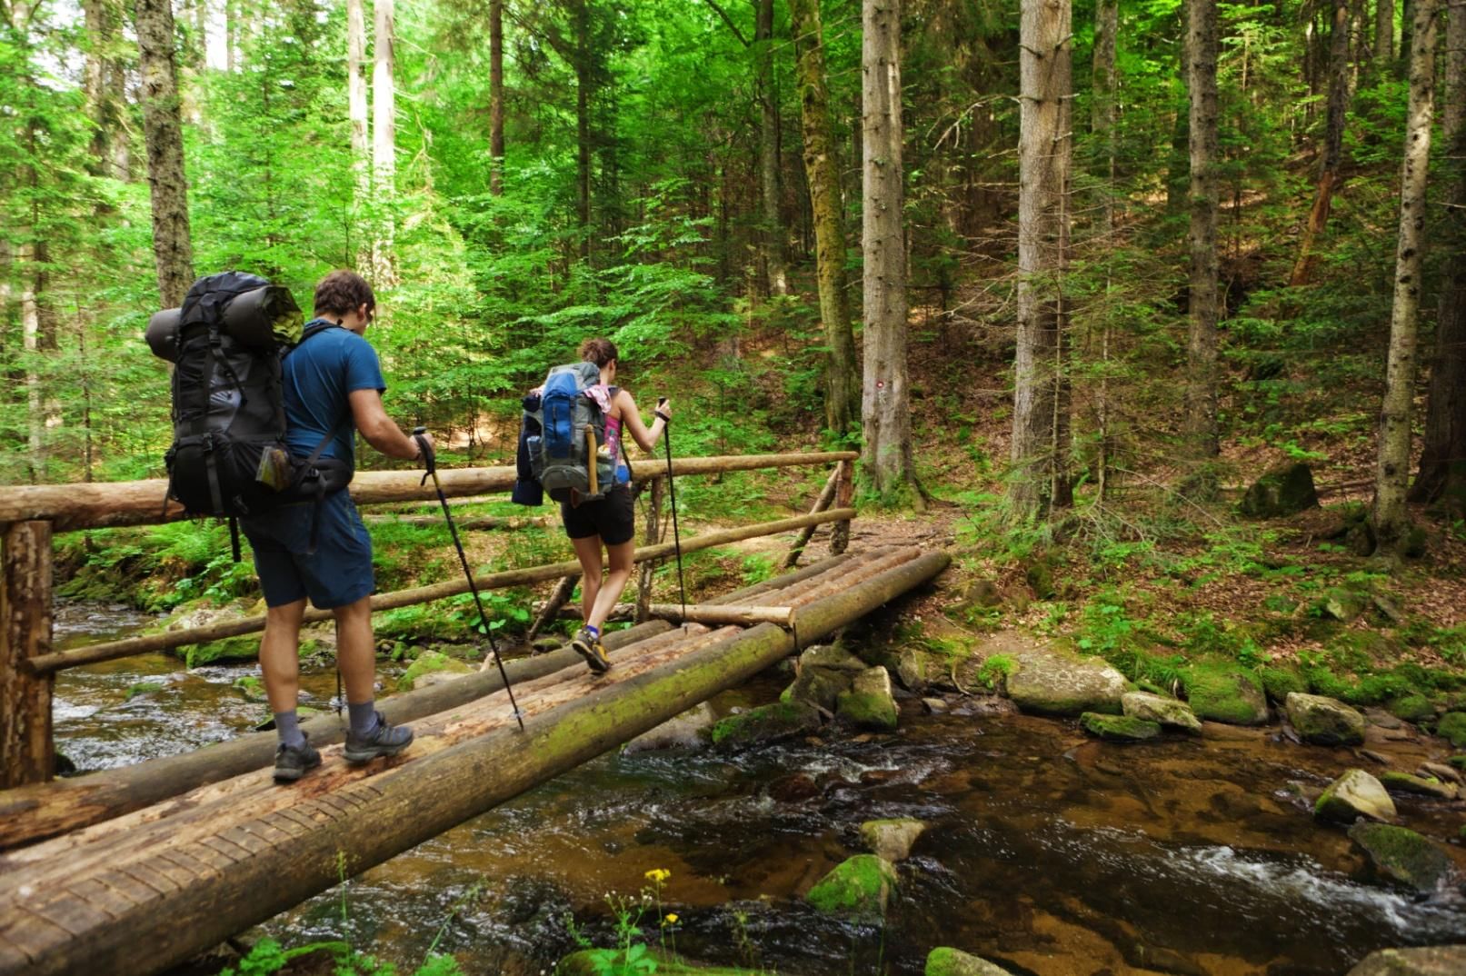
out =
[(167, 969), (654, 728), (947, 561), (894, 548), (817, 563), (712, 601), (789, 607), (790, 626), (647, 621), (607, 640), (605, 676), (564, 667), (579, 662), (570, 651), (510, 662), (523, 731), (482, 673), (384, 702), (416, 731), (403, 755), (347, 766), (331, 744), (290, 787), (273, 784), (262, 733), (3, 791), (0, 976)]

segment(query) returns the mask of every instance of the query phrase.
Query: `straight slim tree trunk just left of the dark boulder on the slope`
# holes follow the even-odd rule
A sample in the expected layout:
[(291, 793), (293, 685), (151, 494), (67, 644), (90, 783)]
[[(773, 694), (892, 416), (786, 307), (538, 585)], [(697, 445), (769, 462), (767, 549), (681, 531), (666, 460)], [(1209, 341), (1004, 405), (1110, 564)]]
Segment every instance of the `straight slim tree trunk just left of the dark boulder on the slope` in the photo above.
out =
[(1192, 478), (1209, 484), (1207, 462), (1217, 440), (1217, 0), (1189, 0), (1186, 29), (1190, 89), (1190, 309), (1186, 347), (1186, 438), (1198, 465)]

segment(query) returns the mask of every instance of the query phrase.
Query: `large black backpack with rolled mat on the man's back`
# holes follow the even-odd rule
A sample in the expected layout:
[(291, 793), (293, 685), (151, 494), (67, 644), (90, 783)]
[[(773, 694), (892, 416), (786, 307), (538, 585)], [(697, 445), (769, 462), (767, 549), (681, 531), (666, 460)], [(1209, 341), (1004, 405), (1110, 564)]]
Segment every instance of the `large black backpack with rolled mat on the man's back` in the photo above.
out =
[(308, 459), (284, 440), (281, 361), (325, 328), (302, 333), (290, 292), (240, 271), (199, 278), (182, 308), (152, 317), (148, 344), (174, 363), (169, 497), (189, 514), (259, 514), (350, 481), (346, 462), (320, 456), (334, 431)]

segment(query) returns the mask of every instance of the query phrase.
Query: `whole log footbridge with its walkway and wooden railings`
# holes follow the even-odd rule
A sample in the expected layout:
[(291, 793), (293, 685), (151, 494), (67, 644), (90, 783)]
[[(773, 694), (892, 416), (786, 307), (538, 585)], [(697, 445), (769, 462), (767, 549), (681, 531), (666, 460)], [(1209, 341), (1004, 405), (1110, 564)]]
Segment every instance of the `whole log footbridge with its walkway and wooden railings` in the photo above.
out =
[[(877, 548), (843, 552), (849, 538), (853, 453), (683, 459), (673, 475), (836, 462), (808, 516), (710, 532), (683, 551), (799, 530), (786, 569), (809, 533), (833, 523), (830, 558), (683, 613), (649, 602), (649, 570), (671, 555), (660, 538), (664, 465), (639, 462), (649, 482), (641, 623), (607, 636), (613, 668), (591, 674), (570, 649), (507, 662), (519, 728), (497, 670), (394, 696), (383, 711), (412, 724), (400, 756), (349, 766), (334, 717), (308, 722), (323, 765), (292, 787), (274, 785), (274, 734), (255, 733), (125, 769), (50, 781), (50, 686), (57, 670), (249, 633), (254, 620), (110, 642), (50, 648), (50, 536), (160, 514), (161, 482), (10, 489), (0, 586), (0, 976), (75, 972), (155, 973), (330, 888), (525, 790), (654, 728), (733, 687), (800, 646), (830, 636), (937, 576), (944, 552)], [(507, 491), (513, 469), (441, 472), (454, 495)], [(119, 489), (108, 495), (104, 489)], [(103, 489), (103, 491), (98, 491)], [(358, 475), (364, 504), (431, 500), (410, 472)], [(560, 579), (557, 563), (478, 577), (481, 588)], [(374, 607), (440, 599), (466, 582), (384, 594)], [(380, 602), (378, 602), (380, 601)], [(553, 599), (550, 602), (554, 602)], [(655, 608), (655, 613), (652, 613)], [(547, 604), (550, 615), (551, 607)], [(557, 610), (557, 607), (556, 607)], [(673, 617), (676, 624), (667, 618)], [(44, 721), (41, 721), (44, 712)]]

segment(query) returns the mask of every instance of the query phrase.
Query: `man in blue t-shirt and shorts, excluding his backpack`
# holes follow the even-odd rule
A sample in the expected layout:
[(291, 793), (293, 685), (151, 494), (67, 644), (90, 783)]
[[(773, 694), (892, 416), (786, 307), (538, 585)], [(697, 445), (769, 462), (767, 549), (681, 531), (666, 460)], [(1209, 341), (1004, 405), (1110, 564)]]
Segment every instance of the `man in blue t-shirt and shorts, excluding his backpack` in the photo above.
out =
[[(315, 287), (315, 318), (308, 339), (281, 362), (286, 443), (296, 457), (345, 463), (353, 470), (353, 431), (388, 457), (416, 460), (432, 448), (403, 434), (387, 416), (387, 388), (377, 352), (364, 337), (375, 315), (371, 286), (353, 271), (331, 271)], [(394, 727), (375, 709), (375, 639), (371, 626), (371, 536), (345, 487), (314, 501), (298, 501), (246, 514), (240, 526), (255, 554), (265, 595), (265, 633), (259, 668), (274, 712), (280, 744), (276, 783), (293, 783), (321, 764), (296, 715), (301, 623), (306, 598), (336, 617), (336, 658), (346, 684), (350, 730), (346, 761), (393, 756), (412, 742), (412, 730)]]

